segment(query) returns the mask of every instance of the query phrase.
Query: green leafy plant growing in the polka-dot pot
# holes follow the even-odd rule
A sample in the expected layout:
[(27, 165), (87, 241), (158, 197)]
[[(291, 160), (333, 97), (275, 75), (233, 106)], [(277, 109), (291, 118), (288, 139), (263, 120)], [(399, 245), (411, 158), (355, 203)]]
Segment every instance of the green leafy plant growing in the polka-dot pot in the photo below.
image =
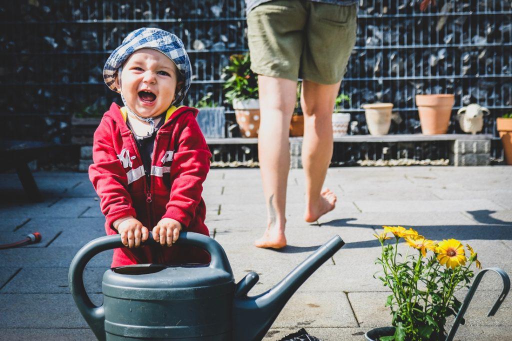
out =
[(250, 69), (249, 54), (233, 54), (229, 64), (222, 70), (224, 78), (225, 97), (229, 103), (234, 99), (258, 98), (258, 75)]

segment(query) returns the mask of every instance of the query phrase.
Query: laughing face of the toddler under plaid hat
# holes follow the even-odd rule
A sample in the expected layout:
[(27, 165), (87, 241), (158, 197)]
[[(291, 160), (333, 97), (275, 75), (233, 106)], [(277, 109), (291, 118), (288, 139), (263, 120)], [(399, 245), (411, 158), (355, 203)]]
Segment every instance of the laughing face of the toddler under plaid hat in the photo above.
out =
[(169, 108), (181, 86), (178, 72), (175, 63), (157, 50), (134, 52), (121, 71), (121, 93), (126, 104), (142, 117), (160, 115)]

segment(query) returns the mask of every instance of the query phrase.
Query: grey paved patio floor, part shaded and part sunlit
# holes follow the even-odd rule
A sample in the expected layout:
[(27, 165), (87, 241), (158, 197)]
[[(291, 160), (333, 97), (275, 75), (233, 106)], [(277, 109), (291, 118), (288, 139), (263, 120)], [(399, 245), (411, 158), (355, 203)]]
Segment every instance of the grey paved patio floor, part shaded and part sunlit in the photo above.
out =
[[(29, 204), (15, 174), (0, 175), (0, 243), (39, 231), (39, 244), (0, 250), (0, 339), (93, 339), (68, 288), (76, 251), (104, 235), (102, 214), (87, 174), (36, 173), (45, 196)], [(302, 220), (304, 176), (290, 172), (287, 206), (289, 246), (252, 246), (265, 226), (258, 169), (215, 169), (205, 183), (207, 225), (225, 248), (235, 279), (260, 274), (252, 294), (263, 292), (332, 236), (347, 245), (293, 295), (265, 339), (279, 340), (300, 328), (324, 340), (362, 340), (389, 325), (388, 293), (373, 278), (381, 225), (416, 228), (430, 239), (457, 238), (474, 246), (484, 267), (512, 275), (512, 167), (332, 168), (326, 180), (338, 195), (336, 209), (317, 224)], [(101, 302), (101, 276), (111, 252), (95, 257), (86, 288)], [(488, 275), (466, 313), (456, 339), (512, 340), (512, 294), (494, 317), (497, 276)]]

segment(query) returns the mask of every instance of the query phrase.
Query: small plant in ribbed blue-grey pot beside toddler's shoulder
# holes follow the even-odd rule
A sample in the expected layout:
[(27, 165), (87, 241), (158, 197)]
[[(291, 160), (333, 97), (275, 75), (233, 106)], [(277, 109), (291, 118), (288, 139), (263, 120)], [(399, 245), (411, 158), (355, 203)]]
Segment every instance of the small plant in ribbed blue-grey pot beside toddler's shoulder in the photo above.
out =
[(224, 138), (226, 117), (224, 107), (218, 106), (211, 98), (213, 93), (208, 92), (194, 106), (199, 109), (197, 122), (204, 137)]

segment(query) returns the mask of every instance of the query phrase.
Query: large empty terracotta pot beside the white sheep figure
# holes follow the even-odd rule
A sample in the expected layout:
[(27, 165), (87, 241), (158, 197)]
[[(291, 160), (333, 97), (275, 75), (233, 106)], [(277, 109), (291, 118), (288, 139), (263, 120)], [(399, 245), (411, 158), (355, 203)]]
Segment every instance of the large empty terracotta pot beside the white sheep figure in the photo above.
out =
[(446, 134), (454, 103), (453, 94), (416, 95), (421, 132), (424, 135)]

